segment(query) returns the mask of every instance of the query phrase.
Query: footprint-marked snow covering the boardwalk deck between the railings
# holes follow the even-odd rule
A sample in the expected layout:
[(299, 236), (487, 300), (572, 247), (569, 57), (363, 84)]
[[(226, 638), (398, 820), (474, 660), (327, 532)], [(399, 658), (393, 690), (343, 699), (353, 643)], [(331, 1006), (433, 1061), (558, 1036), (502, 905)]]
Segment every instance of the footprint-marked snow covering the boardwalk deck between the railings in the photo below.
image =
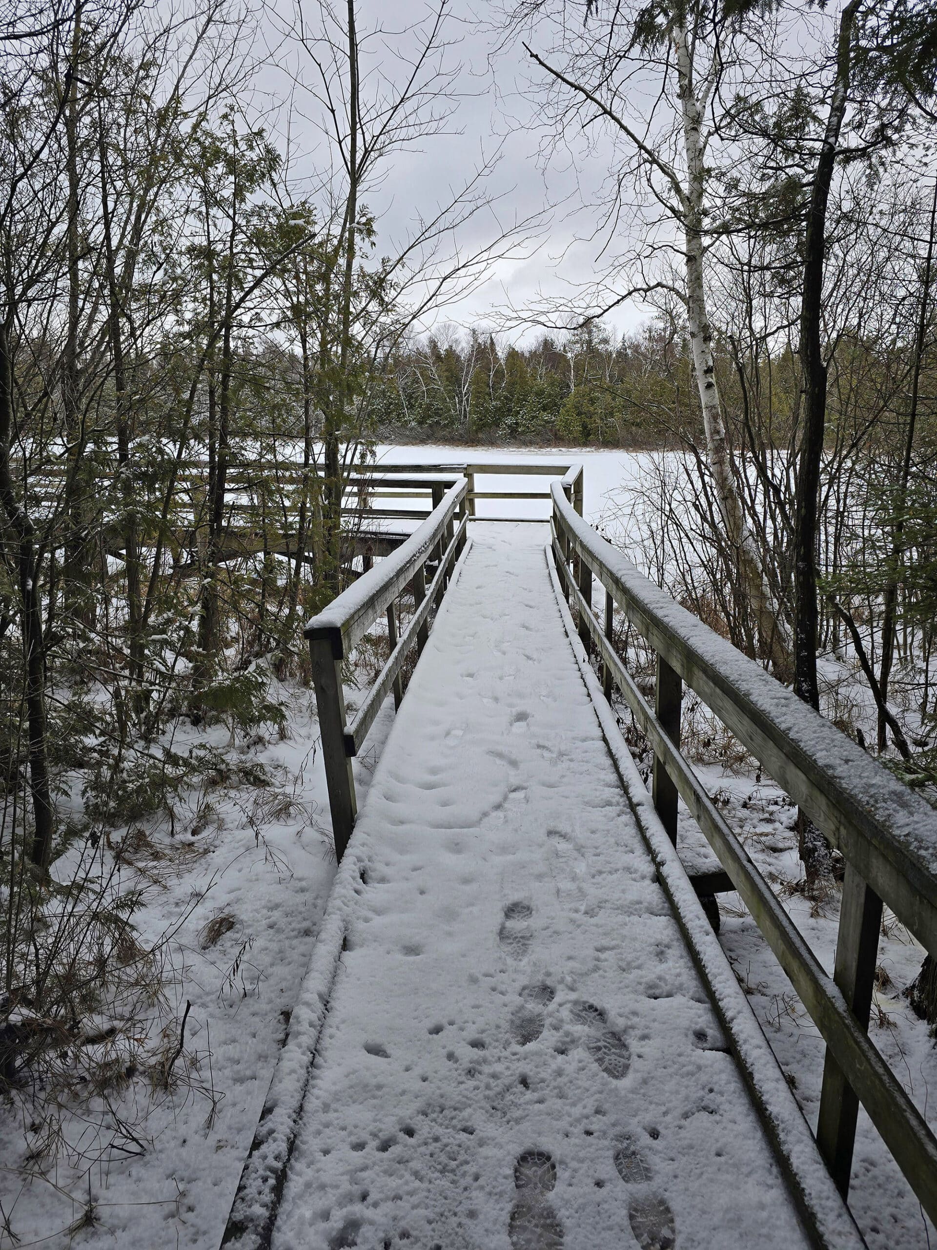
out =
[(543, 530), (472, 532), (359, 818), (366, 882), (274, 1248), (806, 1244), (608, 758)]

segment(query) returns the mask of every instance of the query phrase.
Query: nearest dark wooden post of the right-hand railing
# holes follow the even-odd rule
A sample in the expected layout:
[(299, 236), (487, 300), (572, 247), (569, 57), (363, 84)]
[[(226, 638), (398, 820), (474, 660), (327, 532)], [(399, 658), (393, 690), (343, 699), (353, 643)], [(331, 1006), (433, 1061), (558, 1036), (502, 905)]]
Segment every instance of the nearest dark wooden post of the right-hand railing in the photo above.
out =
[[(847, 862), (836, 939), (833, 980), (865, 1032), (872, 1010), (882, 900)], [(858, 1098), (827, 1048), (820, 1094), (817, 1145), (843, 1198), (850, 1191)]]

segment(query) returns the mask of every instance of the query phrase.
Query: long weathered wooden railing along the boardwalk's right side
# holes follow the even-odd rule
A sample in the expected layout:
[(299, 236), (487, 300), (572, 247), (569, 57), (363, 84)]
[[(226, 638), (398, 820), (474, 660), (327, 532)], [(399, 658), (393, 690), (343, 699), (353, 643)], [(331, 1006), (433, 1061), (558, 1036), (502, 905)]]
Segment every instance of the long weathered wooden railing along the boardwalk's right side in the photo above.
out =
[[(851, 739), (643, 578), (553, 484), (552, 550), (580, 636), (653, 749), (653, 802), (676, 842), (677, 796), (706, 835), (826, 1041), (817, 1145), (846, 1196), (861, 1102), (931, 1220), (937, 1140), (868, 1038), (882, 904), (937, 954), (937, 812)], [(570, 565), (573, 565), (571, 569)], [(605, 588), (605, 620), (592, 610)], [(611, 644), (618, 608), (657, 652), (651, 709)], [(846, 860), (833, 976), (781, 906), (680, 750), (686, 682)]]

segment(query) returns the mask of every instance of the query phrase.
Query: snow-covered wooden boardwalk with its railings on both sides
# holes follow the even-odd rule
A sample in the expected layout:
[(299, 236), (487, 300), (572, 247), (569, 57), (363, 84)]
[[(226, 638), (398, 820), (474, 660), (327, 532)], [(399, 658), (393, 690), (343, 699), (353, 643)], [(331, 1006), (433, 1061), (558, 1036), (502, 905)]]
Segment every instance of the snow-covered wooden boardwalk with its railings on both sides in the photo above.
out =
[[(306, 630), (341, 862), (225, 1244), (858, 1248), (860, 1101), (933, 1218), (937, 1141), (867, 1025), (883, 902), (937, 948), (935, 814), (597, 535), (578, 466), (551, 499), (550, 530), (475, 522), (466, 546), (468, 482), (447, 485)], [(616, 611), (657, 652), (655, 708)], [(385, 612), (390, 656), (346, 706)], [(683, 682), (843, 854), (835, 978), (681, 754)], [(350, 760), (391, 691), (359, 814)], [(700, 905), (722, 889), (827, 1044), (816, 1139)]]

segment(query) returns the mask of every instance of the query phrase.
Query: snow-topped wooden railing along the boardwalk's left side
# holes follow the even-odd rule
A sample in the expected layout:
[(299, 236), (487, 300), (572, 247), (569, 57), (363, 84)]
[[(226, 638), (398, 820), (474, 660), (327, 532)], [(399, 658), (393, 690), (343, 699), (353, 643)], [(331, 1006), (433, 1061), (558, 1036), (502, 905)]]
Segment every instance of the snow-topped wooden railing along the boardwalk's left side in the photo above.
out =
[[(445, 492), (444, 492), (445, 491)], [(447, 490), (436, 486), (439, 502), (414, 534), (380, 564), (362, 574), (305, 629), (312, 655), (312, 680), (319, 709), (322, 758), (329, 784), (335, 854), (341, 860), (357, 815), (351, 760), (394, 688), (395, 704), (402, 690), (400, 670), (414, 646), (422, 651), (429, 618), (439, 606), (455, 561), (465, 545), (468, 482), (462, 478)], [(429, 586), (427, 561), (435, 564)], [(415, 612), (397, 635), (394, 601), (406, 588), (414, 592)], [(390, 656), (351, 722), (345, 711), (341, 666), (381, 612), (387, 614)]]

